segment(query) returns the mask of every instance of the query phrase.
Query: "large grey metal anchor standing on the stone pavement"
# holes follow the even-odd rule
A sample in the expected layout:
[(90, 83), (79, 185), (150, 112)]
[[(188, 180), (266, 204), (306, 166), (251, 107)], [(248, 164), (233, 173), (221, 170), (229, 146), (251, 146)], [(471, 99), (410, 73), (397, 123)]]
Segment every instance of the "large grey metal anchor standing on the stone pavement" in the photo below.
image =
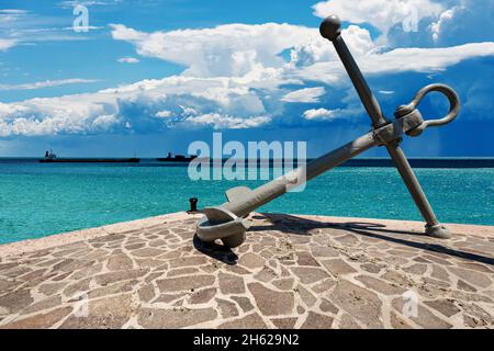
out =
[[(372, 131), (257, 189), (250, 190), (246, 186), (239, 186), (228, 190), (226, 203), (217, 207), (204, 208), (205, 217), (198, 222), (197, 235), (199, 239), (205, 242), (221, 239), (229, 248), (242, 245), (246, 238), (246, 230), (249, 228), (249, 223), (245, 217), (250, 212), (284, 194), (294, 184), (308, 181), (374, 146), (385, 146), (388, 149), (426, 222), (425, 234), (436, 238), (450, 238), (451, 234), (448, 228), (437, 220), (400, 144), (404, 135), (416, 137), (427, 127), (441, 126), (453, 121), (460, 112), (460, 100), (457, 93), (445, 84), (424, 87), (411, 103), (398, 106), (394, 112), (395, 118), (390, 121), (382, 114), (378, 100), (369, 89), (340, 35), (341, 22), (339, 19), (336, 15), (328, 16), (321, 24), (319, 32), (323, 37), (333, 42), (367, 113), (372, 120)], [(431, 91), (441, 92), (450, 103), (449, 113), (440, 120), (424, 120), (417, 110), (420, 100)]]

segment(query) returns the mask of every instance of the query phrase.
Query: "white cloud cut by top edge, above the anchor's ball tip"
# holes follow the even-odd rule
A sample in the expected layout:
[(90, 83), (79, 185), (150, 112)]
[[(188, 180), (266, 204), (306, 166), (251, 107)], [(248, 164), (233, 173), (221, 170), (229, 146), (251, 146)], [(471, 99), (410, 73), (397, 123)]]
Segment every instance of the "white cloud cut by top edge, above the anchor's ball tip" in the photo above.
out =
[(313, 9), (319, 18), (337, 14), (343, 21), (370, 23), (383, 34), (408, 19), (419, 22), (444, 11), (441, 4), (429, 0), (328, 0), (316, 3)]

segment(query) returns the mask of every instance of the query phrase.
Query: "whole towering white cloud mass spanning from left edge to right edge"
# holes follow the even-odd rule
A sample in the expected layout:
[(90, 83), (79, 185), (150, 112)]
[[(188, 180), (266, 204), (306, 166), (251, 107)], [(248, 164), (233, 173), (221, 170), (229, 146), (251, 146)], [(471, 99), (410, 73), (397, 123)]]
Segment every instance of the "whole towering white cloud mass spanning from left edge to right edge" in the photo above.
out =
[[(359, 14), (353, 15), (357, 21)], [(392, 23), (375, 19), (374, 25), (385, 30)], [(133, 45), (137, 55), (187, 68), (179, 76), (94, 93), (0, 103), (0, 135), (255, 128), (284, 123), (290, 109), (299, 104), (302, 107), (291, 123), (296, 118), (329, 122), (360, 112), (345, 100), (344, 105), (314, 106), (348, 88), (334, 48), (315, 27), (267, 23), (151, 33), (122, 24), (111, 29), (113, 38)], [(343, 35), (362, 71), (374, 76), (438, 72), (469, 58), (494, 56), (492, 42), (382, 50), (361, 26), (350, 25)]]

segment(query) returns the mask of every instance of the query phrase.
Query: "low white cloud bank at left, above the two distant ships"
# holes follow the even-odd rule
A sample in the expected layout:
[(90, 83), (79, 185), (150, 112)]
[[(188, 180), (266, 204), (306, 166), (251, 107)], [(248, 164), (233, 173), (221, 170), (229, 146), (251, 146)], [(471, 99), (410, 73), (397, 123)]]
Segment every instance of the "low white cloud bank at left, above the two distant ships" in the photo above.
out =
[(266, 113), (242, 78), (173, 76), (96, 93), (0, 103), (0, 135), (249, 128), (269, 123)]

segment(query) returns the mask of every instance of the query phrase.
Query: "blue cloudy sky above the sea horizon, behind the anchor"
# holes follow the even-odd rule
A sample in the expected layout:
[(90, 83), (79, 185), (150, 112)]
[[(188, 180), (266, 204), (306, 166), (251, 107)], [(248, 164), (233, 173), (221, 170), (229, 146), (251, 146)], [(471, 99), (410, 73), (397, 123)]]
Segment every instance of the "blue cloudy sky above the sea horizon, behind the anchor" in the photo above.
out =
[(408, 156), (494, 157), (490, 0), (0, 0), (0, 157), (158, 157), (214, 132), (327, 152), (370, 129), (318, 33), (334, 13), (388, 117), (429, 83), (460, 95)]

